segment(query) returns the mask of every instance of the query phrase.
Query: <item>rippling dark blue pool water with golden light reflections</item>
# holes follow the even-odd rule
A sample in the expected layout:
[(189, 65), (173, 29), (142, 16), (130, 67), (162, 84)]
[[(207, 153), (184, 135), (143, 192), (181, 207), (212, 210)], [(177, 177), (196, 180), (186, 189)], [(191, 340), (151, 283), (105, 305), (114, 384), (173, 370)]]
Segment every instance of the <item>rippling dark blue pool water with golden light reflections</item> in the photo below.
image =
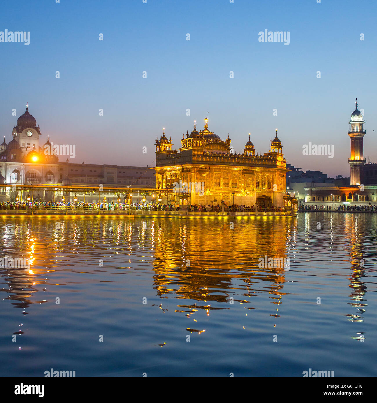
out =
[(1, 217), (0, 375), (375, 376), (376, 224)]

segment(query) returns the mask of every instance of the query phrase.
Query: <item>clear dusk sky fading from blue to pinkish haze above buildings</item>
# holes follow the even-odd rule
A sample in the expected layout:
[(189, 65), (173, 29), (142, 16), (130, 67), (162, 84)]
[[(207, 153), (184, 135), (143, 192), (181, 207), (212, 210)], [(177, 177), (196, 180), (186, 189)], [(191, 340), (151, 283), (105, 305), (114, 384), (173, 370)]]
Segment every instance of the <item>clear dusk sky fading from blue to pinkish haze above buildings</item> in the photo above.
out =
[[(70, 162), (153, 166), (163, 127), (179, 149), (209, 111), (208, 128), (229, 133), (236, 152), (248, 133), (268, 152), (277, 128), (287, 162), (349, 176), (357, 97), (365, 156), (377, 162), (377, 2), (17, 0), (1, 8), (0, 31), (30, 31), (29, 45), (0, 42), (6, 142), (28, 102), (42, 144), (50, 136), (76, 145)], [(289, 45), (259, 42), (265, 29), (289, 31)], [(333, 144), (334, 157), (304, 156), (309, 142)]]

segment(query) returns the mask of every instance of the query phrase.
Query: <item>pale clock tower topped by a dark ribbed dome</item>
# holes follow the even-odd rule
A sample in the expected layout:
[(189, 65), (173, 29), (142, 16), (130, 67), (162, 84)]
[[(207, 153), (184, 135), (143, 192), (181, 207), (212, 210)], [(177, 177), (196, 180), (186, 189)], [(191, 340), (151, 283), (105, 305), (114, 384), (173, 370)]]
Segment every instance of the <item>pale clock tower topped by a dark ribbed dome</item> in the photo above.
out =
[(37, 121), (28, 109), (29, 105), (26, 104), (25, 113), (17, 119), (17, 126), (12, 130), (13, 138), (19, 142), (23, 156), (30, 151), (39, 152), (39, 136), (41, 135)]

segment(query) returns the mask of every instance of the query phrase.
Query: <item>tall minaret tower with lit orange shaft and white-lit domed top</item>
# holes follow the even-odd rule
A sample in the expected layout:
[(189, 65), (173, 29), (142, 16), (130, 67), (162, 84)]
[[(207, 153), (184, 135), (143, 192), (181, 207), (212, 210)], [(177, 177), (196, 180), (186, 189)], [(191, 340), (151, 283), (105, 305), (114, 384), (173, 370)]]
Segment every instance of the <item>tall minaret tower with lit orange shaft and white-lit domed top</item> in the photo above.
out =
[(357, 98), (356, 109), (352, 112), (351, 120), (348, 123), (350, 125), (348, 135), (351, 137), (351, 156), (348, 158), (351, 167), (350, 185), (361, 185), (364, 181), (365, 158), (362, 138), (365, 136), (365, 129), (363, 129), (365, 120), (357, 109)]

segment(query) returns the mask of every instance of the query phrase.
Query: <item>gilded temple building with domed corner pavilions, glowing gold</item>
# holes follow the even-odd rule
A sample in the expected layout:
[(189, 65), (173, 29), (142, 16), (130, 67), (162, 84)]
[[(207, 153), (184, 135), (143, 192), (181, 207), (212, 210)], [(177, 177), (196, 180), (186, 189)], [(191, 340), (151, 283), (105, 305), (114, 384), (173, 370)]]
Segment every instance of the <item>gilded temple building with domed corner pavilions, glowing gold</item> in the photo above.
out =
[(183, 134), (179, 151), (172, 150), (171, 138), (156, 139), (156, 188), (162, 203), (238, 204), (259, 207), (283, 206), (285, 175), (288, 171), (276, 136), (270, 150), (257, 154), (249, 141), (235, 154), (231, 139), (224, 141), (208, 129), (197, 131), (196, 123)]

